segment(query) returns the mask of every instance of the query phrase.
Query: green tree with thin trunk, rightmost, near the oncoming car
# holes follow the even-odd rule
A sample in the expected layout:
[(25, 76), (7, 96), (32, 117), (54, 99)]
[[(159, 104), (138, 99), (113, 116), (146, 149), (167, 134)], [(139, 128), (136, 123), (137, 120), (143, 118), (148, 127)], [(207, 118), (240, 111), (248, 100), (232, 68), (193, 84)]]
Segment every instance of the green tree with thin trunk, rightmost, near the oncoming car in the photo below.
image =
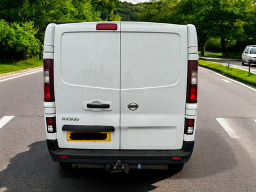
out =
[(209, 36), (220, 38), (222, 54), (226, 56), (226, 40), (247, 38), (244, 28), (248, 23), (248, 15), (252, 14), (250, 7), (254, 5), (250, 0), (215, 0), (209, 1), (209, 4), (210, 9), (203, 21), (209, 28)]

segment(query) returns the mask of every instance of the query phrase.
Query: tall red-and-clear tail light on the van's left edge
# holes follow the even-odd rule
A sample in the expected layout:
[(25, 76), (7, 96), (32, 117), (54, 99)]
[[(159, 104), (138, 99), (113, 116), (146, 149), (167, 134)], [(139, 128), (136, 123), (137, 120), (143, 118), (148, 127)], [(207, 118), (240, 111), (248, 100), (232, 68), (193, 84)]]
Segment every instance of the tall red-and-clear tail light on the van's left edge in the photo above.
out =
[(44, 59), (44, 102), (54, 100), (54, 60)]

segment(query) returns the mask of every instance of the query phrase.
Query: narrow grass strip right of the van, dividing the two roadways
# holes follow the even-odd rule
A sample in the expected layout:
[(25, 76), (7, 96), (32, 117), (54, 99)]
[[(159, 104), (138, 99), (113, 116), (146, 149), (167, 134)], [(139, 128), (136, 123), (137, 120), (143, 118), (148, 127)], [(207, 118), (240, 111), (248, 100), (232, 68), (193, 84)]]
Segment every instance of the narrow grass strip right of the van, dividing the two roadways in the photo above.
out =
[(207, 62), (204, 60), (199, 60), (199, 66), (203, 66), (205, 68), (209, 68), (210, 70), (217, 71), (218, 73), (236, 79), (240, 82), (256, 86), (256, 74), (250, 73), (249, 75), (247, 71), (239, 70), (232, 67), (230, 67), (230, 69), (227, 69), (226, 66), (217, 63)]

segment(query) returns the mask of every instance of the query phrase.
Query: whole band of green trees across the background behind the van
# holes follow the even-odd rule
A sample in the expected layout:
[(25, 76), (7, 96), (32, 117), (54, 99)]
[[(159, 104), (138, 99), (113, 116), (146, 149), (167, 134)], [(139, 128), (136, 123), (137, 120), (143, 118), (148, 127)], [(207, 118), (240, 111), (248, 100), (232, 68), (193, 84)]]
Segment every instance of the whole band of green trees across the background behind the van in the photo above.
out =
[(192, 23), (202, 55), (209, 39), (220, 39), (225, 55), (226, 46), (256, 43), (255, 15), (256, 0), (1, 0), (0, 62), (40, 54), (46, 21)]

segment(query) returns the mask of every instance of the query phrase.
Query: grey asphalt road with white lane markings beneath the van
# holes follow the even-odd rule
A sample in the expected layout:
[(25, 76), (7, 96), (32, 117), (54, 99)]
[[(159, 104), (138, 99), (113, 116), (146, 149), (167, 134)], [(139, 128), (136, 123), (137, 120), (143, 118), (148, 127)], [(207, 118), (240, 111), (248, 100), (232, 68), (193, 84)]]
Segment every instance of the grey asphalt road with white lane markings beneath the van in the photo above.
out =
[(195, 146), (183, 170), (108, 174), (84, 169), (63, 172), (50, 159), (42, 71), (4, 79), (0, 78), (0, 118), (11, 117), (0, 128), (1, 192), (256, 191), (255, 89), (199, 68)]

